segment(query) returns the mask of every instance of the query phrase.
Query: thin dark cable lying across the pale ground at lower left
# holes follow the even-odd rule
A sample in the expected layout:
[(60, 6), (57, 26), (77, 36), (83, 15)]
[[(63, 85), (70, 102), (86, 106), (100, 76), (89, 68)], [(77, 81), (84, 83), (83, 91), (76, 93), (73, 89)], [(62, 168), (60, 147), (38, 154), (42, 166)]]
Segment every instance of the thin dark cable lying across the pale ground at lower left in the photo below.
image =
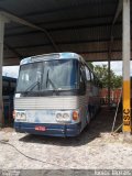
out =
[[(0, 140), (0, 143), (12, 146), (12, 147), (13, 147), (15, 151), (18, 151), (21, 155), (23, 155), (23, 156), (25, 156), (25, 157), (28, 157), (28, 158), (30, 158), (30, 160), (33, 160), (33, 161), (41, 162), (41, 163), (44, 163), (44, 164), (50, 164), (50, 165), (54, 165), (54, 166), (59, 166), (59, 167), (61, 167), (61, 165), (58, 165), (58, 164), (50, 163), (50, 162), (44, 162), (44, 161), (41, 161), (41, 160), (38, 160), (38, 158), (34, 158), (34, 157), (32, 157), (32, 156), (29, 156), (29, 155), (24, 154), (23, 152), (21, 152), (20, 150), (18, 150), (13, 144), (10, 144), (9, 142), (6, 142), (4, 140)], [(62, 167), (68, 168), (67, 166), (62, 166)]]

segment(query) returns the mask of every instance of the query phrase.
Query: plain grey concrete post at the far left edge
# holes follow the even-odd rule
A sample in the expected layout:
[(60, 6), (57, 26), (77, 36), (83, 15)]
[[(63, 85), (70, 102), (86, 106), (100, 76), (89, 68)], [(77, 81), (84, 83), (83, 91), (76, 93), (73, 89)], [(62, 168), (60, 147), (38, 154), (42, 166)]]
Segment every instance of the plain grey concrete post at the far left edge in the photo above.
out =
[(2, 65), (3, 65), (3, 35), (4, 20), (0, 16), (0, 123), (3, 122), (3, 103), (2, 103)]

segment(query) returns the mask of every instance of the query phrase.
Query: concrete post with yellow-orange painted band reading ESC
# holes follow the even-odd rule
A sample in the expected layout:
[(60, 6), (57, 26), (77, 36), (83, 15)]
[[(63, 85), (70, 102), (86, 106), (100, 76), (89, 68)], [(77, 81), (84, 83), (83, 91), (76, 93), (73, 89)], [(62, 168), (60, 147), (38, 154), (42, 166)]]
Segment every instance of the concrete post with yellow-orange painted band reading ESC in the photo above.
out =
[[(131, 106), (130, 106), (130, 0), (123, 0), (123, 133), (131, 134)], [(124, 140), (125, 140), (124, 139)]]

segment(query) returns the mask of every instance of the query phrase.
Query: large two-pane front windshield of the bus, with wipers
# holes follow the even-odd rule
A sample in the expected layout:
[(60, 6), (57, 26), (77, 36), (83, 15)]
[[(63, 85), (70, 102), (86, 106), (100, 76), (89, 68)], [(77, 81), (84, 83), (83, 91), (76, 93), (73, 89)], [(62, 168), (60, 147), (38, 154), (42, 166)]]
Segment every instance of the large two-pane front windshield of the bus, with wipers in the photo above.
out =
[(44, 61), (22, 65), (16, 92), (78, 88), (78, 61)]

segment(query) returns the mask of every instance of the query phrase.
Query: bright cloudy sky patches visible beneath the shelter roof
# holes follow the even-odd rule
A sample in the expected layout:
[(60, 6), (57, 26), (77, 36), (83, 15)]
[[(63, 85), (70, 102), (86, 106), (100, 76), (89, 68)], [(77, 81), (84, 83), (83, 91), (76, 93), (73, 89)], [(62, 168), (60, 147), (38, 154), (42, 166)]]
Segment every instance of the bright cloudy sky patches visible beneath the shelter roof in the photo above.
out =
[[(94, 65), (103, 65), (108, 62), (94, 62)], [(122, 75), (122, 62), (111, 62), (111, 69), (116, 75)], [(131, 62), (131, 75), (132, 75), (132, 62)], [(7, 66), (3, 67), (3, 76), (18, 78), (19, 76), (19, 66)]]

